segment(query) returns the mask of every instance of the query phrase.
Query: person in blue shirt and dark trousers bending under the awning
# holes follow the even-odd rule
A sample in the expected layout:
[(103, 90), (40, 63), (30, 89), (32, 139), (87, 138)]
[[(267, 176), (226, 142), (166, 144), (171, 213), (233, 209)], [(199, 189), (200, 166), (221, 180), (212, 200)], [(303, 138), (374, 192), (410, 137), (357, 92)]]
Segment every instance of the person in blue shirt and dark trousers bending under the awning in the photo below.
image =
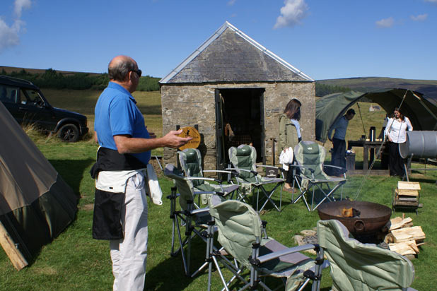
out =
[[(349, 120), (355, 116), (355, 110), (349, 109), (346, 114), (340, 117), (328, 132), (328, 138), (332, 141), (332, 160), (331, 165), (342, 167), (344, 170), (332, 170), (334, 176), (339, 176), (346, 171), (346, 130)], [(335, 129), (334, 136), (331, 138), (332, 131)]]

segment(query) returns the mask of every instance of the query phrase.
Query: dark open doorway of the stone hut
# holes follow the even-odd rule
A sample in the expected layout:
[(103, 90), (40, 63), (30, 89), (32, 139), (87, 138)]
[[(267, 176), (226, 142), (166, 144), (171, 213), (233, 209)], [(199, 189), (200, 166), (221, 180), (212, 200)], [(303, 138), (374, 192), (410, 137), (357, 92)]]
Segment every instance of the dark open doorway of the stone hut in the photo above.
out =
[(263, 88), (217, 89), (217, 167), (229, 163), (231, 146), (250, 144), (257, 150), (257, 162), (264, 162)]

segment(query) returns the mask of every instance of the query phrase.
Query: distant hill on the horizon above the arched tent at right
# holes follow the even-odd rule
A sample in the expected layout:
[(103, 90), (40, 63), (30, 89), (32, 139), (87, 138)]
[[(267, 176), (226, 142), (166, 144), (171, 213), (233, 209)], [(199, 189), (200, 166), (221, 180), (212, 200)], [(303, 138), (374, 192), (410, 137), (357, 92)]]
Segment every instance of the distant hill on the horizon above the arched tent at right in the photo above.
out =
[(410, 89), (437, 100), (436, 80), (359, 77), (359, 78), (317, 80), (315, 82), (324, 85), (350, 88), (351, 90), (357, 90), (361, 92), (368, 92), (371, 90), (382, 89), (382, 88)]

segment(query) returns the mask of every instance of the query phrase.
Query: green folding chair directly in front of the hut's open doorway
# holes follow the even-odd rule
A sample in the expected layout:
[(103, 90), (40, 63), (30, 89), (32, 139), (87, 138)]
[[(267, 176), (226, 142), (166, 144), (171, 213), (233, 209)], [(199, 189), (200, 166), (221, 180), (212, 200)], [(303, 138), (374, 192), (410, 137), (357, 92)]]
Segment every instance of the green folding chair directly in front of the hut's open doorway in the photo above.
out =
[[(239, 145), (238, 148), (231, 147), (229, 148), (229, 160), (231, 160), (231, 164), (233, 167), (229, 167), (226, 170), (235, 171), (235, 179), (237, 184), (242, 186), (242, 191), (244, 191), (244, 195), (246, 196), (252, 191), (257, 191), (256, 198), (256, 209), (257, 211), (262, 211), (264, 206), (266, 206), (267, 202), (272, 203), (272, 206), (276, 208), (276, 210), (281, 211), (281, 203), (282, 203), (282, 185), (285, 182), (284, 172), (281, 171), (281, 178), (267, 178), (261, 177), (257, 172), (257, 167), (273, 167), (266, 165), (256, 165), (257, 161), (257, 151), (254, 147), (250, 145)], [(274, 167), (279, 170), (278, 167)], [(273, 188), (270, 191), (265, 189), (265, 186), (274, 184)], [(281, 194), (279, 197), (279, 208), (276, 206), (276, 203), (272, 200), (272, 196), (274, 191), (281, 188)], [(261, 208), (258, 209), (258, 204), (260, 202), (260, 190), (262, 194), (264, 194), (264, 204), (262, 204)]]

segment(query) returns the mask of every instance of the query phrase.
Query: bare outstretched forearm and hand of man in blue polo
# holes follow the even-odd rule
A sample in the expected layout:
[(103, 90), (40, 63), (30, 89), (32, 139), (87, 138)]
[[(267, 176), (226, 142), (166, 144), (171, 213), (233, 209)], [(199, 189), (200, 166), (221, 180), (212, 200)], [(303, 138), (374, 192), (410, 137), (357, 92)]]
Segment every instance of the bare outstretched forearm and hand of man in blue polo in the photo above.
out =
[(115, 145), (119, 153), (143, 153), (147, 150), (153, 150), (155, 148), (180, 148), (182, 145), (191, 141), (192, 138), (181, 138), (177, 134), (182, 133), (182, 129), (179, 131), (170, 131), (162, 138), (132, 138), (129, 135), (122, 134), (114, 136)]

